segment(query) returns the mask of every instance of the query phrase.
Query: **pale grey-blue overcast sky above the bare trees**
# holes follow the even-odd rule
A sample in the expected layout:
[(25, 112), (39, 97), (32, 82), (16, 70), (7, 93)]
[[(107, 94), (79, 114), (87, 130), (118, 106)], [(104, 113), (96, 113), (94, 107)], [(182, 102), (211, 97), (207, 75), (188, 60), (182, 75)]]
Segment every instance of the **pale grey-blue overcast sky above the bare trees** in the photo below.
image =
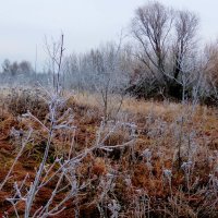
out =
[[(84, 52), (117, 39), (147, 0), (0, 0), (0, 62), (46, 59), (45, 36), (65, 37), (66, 52)], [(203, 40), (218, 36), (218, 0), (160, 0), (201, 17)]]

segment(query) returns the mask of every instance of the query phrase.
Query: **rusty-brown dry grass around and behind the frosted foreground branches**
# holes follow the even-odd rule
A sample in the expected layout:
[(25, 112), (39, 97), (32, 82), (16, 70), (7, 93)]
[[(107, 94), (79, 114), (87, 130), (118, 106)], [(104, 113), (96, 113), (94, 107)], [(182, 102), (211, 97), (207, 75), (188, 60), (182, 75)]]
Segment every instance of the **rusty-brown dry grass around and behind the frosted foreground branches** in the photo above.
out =
[[(15, 96), (23, 98), (22, 92)], [(73, 97), (68, 94), (68, 97), (66, 106), (73, 109), (74, 123), (77, 126), (74, 152), (78, 153), (95, 144), (96, 131), (102, 116), (100, 97), (88, 94), (75, 94)], [(13, 96), (9, 90), (1, 98), (1, 102), (4, 102), (0, 108), (2, 174), (7, 173), (19, 145), (17, 141), (9, 136), (11, 128), (25, 130), (29, 124), (34, 128), (33, 143), (24, 150), (13, 178), (0, 192), (0, 214), (7, 210), (13, 216), (5, 197), (11, 194), (12, 182), (21, 181), (27, 171), (32, 174), (31, 182), (35, 167), (43, 156), (45, 140), (44, 130), (34, 121), (26, 123), (22, 119), (17, 120), (21, 111), (16, 109), (27, 108), (35, 111), (43, 122), (48, 121), (43, 101), (41, 105), (37, 104), (37, 109), (31, 106), (35, 105), (35, 98), (31, 99), (31, 105), (26, 100), (16, 99), (13, 106), (13, 100), (10, 100)], [(117, 106), (119, 101), (113, 101), (111, 108)], [(45, 113), (41, 114), (41, 110)], [(100, 209), (105, 217), (110, 217), (107, 205), (111, 199), (121, 205), (120, 217), (217, 217), (217, 109), (203, 106), (196, 106), (193, 110), (192, 105), (143, 101), (125, 97), (119, 113), (113, 113), (112, 118), (137, 125), (134, 146), (111, 153), (94, 150), (88, 155), (77, 168), (76, 174), (81, 183), (88, 181), (89, 185), (81, 191), (76, 199), (66, 203), (66, 209), (59, 217), (72, 217), (75, 207), (80, 210), (80, 217), (100, 217)], [(106, 144), (122, 144), (129, 136), (126, 129), (120, 129), (110, 135)], [(60, 155), (60, 150), (64, 150), (63, 142), (65, 141), (61, 133), (53, 140), (50, 162)], [(68, 143), (64, 146), (68, 147)], [(3, 175), (0, 182), (2, 178)], [(106, 184), (109, 190), (104, 194)], [(36, 204), (45, 204), (52, 187), (53, 184), (50, 183), (43, 190), (44, 197), (38, 197)]]

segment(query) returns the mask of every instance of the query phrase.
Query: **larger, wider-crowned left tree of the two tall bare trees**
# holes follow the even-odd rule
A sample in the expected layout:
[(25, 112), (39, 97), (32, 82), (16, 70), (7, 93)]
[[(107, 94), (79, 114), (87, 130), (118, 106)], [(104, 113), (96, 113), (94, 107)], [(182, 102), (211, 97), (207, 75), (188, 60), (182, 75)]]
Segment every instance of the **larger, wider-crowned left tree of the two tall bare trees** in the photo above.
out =
[[(146, 65), (152, 76), (167, 82), (167, 44), (172, 28), (172, 10), (159, 2), (149, 2), (136, 10), (132, 22), (132, 33), (140, 43), (141, 51), (136, 57)], [(162, 80), (164, 78), (164, 80)]]

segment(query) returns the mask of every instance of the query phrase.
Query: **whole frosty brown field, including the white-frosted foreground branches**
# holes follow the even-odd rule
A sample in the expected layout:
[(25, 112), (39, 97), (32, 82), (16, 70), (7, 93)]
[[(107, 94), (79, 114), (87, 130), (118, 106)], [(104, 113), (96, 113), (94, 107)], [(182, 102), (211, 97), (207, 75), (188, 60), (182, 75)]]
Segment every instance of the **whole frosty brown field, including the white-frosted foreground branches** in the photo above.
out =
[(0, 217), (218, 217), (218, 110), (0, 90)]

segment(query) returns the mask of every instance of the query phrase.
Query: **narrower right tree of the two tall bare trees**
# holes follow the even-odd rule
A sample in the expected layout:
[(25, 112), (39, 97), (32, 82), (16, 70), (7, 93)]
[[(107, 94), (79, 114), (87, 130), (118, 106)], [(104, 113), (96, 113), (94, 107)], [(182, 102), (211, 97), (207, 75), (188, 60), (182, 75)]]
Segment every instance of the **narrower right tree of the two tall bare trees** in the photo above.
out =
[(172, 45), (173, 90), (185, 99), (187, 86), (194, 82), (194, 60), (196, 55), (196, 32), (198, 17), (190, 11), (177, 11), (174, 21), (175, 40)]

